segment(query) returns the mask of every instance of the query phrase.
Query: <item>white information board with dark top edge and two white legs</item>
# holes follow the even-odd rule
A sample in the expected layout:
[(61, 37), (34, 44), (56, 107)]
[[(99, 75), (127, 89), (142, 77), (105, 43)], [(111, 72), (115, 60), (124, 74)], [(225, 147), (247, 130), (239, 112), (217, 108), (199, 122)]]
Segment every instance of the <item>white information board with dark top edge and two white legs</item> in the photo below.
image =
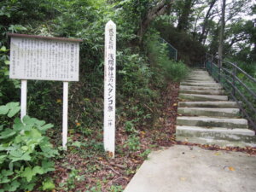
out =
[(10, 79), (21, 79), (20, 118), (26, 115), (27, 79), (63, 81), (62, 146), (67, 144), (68, 82), (79, 81), (81, 39), (9, 34)]

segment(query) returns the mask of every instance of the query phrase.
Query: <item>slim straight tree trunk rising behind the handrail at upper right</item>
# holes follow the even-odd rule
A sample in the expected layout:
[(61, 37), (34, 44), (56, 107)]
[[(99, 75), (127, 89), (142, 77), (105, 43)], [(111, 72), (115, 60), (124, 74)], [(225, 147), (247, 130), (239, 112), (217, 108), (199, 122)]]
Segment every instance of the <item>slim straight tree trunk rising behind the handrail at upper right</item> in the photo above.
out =
[(218, 45), (219, 67), (222, 66), (222, 60), (223, 60), (224, 27), (225, 27), (225, 7), (226, 7), (226, 0), (223, 0), (223, 3), (222, 3), (221, 26), (220, 26), (220, 32), (219, 32), (219, 45)]

